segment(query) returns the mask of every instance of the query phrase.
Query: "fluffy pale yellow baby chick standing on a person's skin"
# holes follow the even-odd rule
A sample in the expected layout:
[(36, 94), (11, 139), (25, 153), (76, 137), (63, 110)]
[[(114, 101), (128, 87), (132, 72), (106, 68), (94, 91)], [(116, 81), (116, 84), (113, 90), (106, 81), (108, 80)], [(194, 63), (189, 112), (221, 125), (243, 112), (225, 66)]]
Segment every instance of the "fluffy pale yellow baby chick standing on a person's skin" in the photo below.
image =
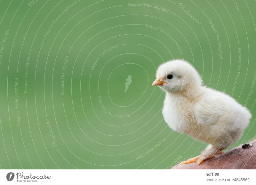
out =
[(152, 85), (166, 93), (162, 113), (169, 127), (209, 144), (201, 155), (180, 164), (199, 165), (222, 153), (243, 135), (252, 117), (234, 98), (203, 86), (195, 68), (183, 60), (160, 65)]

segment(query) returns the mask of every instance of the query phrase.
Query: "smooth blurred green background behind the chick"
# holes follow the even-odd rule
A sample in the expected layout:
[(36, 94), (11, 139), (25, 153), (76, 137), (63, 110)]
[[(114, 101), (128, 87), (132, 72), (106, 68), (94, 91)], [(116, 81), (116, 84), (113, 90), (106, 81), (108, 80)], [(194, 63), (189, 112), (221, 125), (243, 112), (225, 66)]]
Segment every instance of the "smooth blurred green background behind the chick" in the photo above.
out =
[(198, 155), (206, 144), (167, 126), (164, 93), (151, 85), (172, 59), (189, 61), (205, 85), (252, 112), (231, 147), (252, 139), (255, 6), (1, 0), (0, 167), (169, 169)]

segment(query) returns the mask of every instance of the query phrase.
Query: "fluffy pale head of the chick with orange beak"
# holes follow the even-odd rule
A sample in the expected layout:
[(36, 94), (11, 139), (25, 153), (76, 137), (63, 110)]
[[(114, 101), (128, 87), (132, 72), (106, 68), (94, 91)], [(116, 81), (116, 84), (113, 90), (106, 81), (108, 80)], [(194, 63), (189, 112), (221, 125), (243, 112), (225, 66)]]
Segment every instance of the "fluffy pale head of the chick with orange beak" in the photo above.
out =
[(165, 92), (181, 92), (196, 90), (201, 86), (202, 80), (194, 67), (183, 60), (172, 60), (161, 64), (156, 72), (157, 85)]

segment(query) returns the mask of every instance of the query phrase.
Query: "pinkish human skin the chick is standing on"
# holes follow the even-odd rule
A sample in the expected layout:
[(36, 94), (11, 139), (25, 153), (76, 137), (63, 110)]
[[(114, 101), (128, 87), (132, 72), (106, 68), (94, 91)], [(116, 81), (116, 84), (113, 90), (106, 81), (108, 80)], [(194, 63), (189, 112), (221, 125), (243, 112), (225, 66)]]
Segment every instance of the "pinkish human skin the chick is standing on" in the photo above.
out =
[(252, 143), (249, 148), (242, 148), (242, 145), (239, 145), (205, 160), (200, 165), (194, 162), (176, 165), (172, 169), (256, 169), (256, 139), (249, 143)]

